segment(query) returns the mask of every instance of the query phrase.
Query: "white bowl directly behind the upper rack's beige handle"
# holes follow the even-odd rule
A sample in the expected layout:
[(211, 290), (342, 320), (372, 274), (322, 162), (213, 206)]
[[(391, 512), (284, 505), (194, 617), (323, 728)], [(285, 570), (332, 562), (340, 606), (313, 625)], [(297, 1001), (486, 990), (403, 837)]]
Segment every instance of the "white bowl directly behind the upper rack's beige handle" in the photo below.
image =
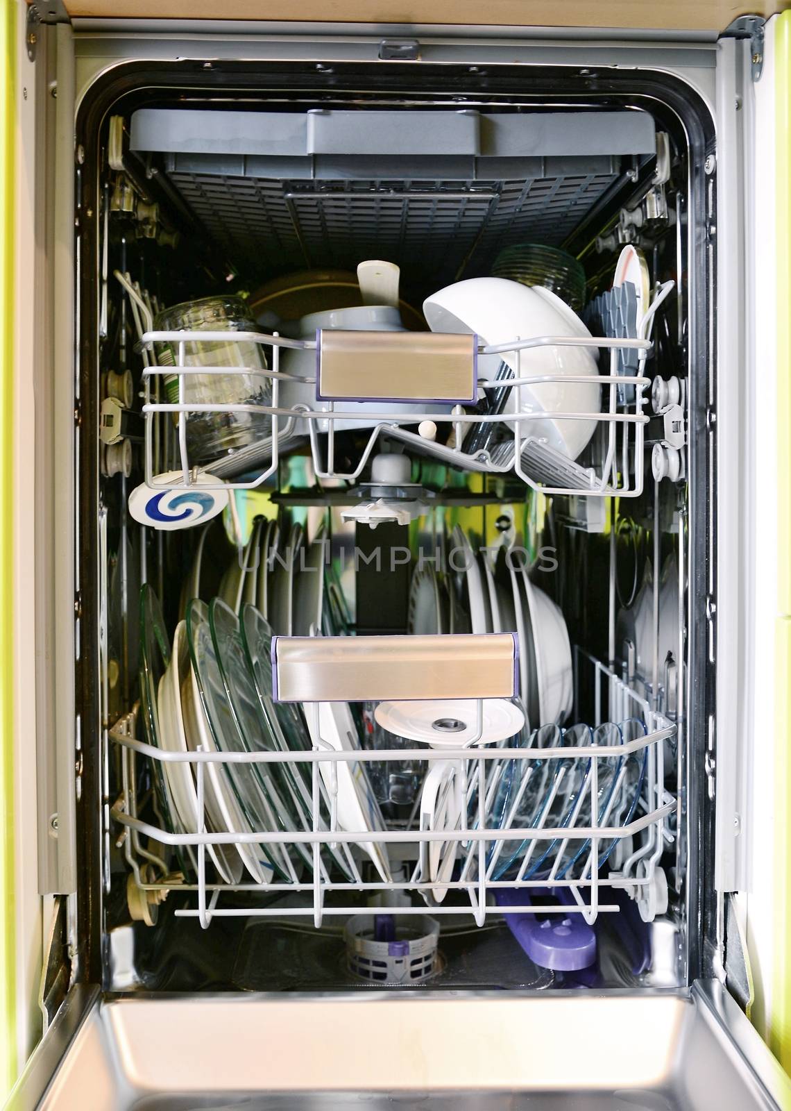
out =
[[(389, 304), (361, 304), (352, 306), (348, 309), (328, 309), (324, 312), (310, 312), (302, 317), (297, 329), (297, 339), (313, 340), (319, 329), (341, 329), (351, 332), (405, 332), (407, 329), (401, 322), (401, 313), (398, 309)], [(317, 356), (312, 350), (293, 350), (283, 348), (280, 351), (280, 369), (286, 374), (293, 374), (298, 378), (314, 378), (317, 369)], [(316, 400), (316, 386), (306, 382), (281, 381), (280, 383), (281, 406), (292, 408), (296, 404), (304, 404), (313, 410), (326, 409), (323, 402)], [(359, 413), (349, 420), (334, 421), (336, 431), (341, 432), (354, 428), (373, 428), (379, 421), (371, 420), (369, 413), (403, 413), (413, 412), (415, 422), (421, 413), (449, 412), (450, 406), (410, 406), (403, 402), (379, 402), (379, 401), (343, 401), (337, 404), (343, 412)], [(317, 421), (320, 432), (329, 430), (330, 422)], [(302, 420), (297, 426), (298, 434), (308, 434), (308, 422)]]

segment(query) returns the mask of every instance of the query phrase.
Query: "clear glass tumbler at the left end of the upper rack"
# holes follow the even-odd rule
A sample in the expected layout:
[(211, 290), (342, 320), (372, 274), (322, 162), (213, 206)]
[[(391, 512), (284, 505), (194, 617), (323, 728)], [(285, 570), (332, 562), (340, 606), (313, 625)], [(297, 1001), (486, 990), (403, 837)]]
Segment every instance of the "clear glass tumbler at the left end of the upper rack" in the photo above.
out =
[[(260, 343), (233, 339), (233, 332), (254, 332), (256, 321), (241, 298), (208, 297), (186, 301), (160, 312), (153, 323), (156, 331), (228, 332), (223, 340), (192, 340), (184, 343), (187, 367), (247, 367), (251, 371), (267, 370)], [(160, 366), (177, 366), (178, 342), (157, 344)], [(269, 406), (272, 382), (256, 374), (184, 374), (184, 403)], [(168, 401), (179, 400), (179, 376), (164, 376)], [(261, 440), (271, 434), (268, 413), (256, 412), (188, 412), (187, 448), (190, 464), (207, 463), (220, 456)]]

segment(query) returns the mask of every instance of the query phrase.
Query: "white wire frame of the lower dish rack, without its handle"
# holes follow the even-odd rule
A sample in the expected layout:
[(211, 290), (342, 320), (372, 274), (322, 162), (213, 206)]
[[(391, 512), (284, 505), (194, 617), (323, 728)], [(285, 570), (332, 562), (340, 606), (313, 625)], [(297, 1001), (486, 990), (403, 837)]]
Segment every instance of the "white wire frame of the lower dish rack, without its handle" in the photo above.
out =
[[(550, 888), (568, 888), (573, 895), (573, 905), (557, 908), (558, 913), (579, 913), (585, 921), (592, 923), (598, 914), (619, 910), (614, 902), (608, 902), (608, 889), (625, 890), (637, 899), (641, 913), (650, 920), (662, 907), (655, 894), (657, 880), (661, 869), (659, 860), (665, 844), (672, 842), (671, 815), (675, 810), (675, 799), (664, 790), (664, 745), (675, 733), (675, 727), (667, 719), (653, 712), (647, 702), (631, 691), (612, 671), (587, 653), (577, 653), (577, 661), (591, 669), (595, 679), (595, 713), (594, 724), (601, 723), (601, 714), (607, 707), (605, 720), (621, 720), (627, 717), (640, 715), (648, 730), (644, 737), (615, 745), (584, 745), (579, 748), (475, 748), (459, 750), (420, 750), (420, 759), (429, 763), (435, 760), (457, 761), (461, 777), (461, 797), (467, 804), (461, 808), (461, 818), (454, 829), (437, 831), (415, 828), (414, 820), (393, 824), (382, 830), (348, 830), (339, 829), (336, 822), (334, 808), (330, 812), (327, 828), (320, 828), (320, 764), (338, 765), (339, 762), (353, 764), (371, 761), (402, 761), (403, 749), (395, 750), (361, 750), (329, 751), (313, 750), (300, 752), (206, 752), (191, 751), (180, 753), (163, 751), (136, 739), (137, 709), (122, 718), (111, 731), (111, 740), (119, 747), (121, 764), (121, 793), (112, 808), (112, 817), (123, 828), (119, 844), (123, 845), (127, 862), (131, 869), (136, 885), (143, 892), (151, 892), (153, 900), (161, 899), (164, 893), (177, 889), (194, 893), (194, 905), (179, 908), (177, 917), (198, 918), (207, 928), (213, 918), (229, 917), (277, 917), (282, 915), (282, 907), (277, 905), (277, 898), (262, 900), (260, 897), (278, 897), (282, 894), (299, 894), (301, 905), (289, 904), (288, 913), (312, 918), (318, 928), (327, 915), (349, 915), (359, 913), (366, 897), (374, 899), (383, 892), (395, 892), (408, 897), (408, 900), (419, 893), (425, 893), (431, 903), (432, 914), (472, 915), (478, 925), (482, 925), (491, 913), (535, 913), (537, 909), (525, 902), (524, 905), (493, 907), (494, 892), (499, 889), (548, 890)], [(480, 714), (480, 710), (479, 710)], [(640, 797), (631, 819), (623, 824), (609, 824), (612, 817), (611, 807), (619, 797), (622, 778), (625, 773), (625, 758), (631, 753), (645, 753), (645, 771), (641, 778)], [(161, 763), (170, 761), (189, 762), (196, 774), (199, 821), (193, 832), (174, 833), (164, 828), (164, 823), (152, 824), (144, 821), (138, 813), (136, 784), (138, 783), (138, 761), (147, 759)], [(560, 824), (550, 824), (545, 815), (550, 812), (550, 803), (542, 807), (542, 819), (530, 828), (517, 828), (507, 819), (502, 828), (487, 824), (488, 800), (491, 798), (492, 785), (498, 769), (508, 761), (524, 761), (533, 764), (535, 761), (550, 761), (559, 773), (552, 778), (551, 790), (557, 792), (562, 788), (563, 769), (570, 769), (574, 761), (589, 761), (589, 771), (583, 780), (583, 787), (573, 804), (570, 818)], [(611, 792), (611, 802), (600, 813), (599, 779), (602, 761), (619, 761), (619, 778)], [(279, 832), (272, 830), (247, 831), (226, 829), (222, 832), (210, 831), (206, 824), (204, 798), (207, 764), (237, 763), (251, 765), (256, 763), (291, 763), (308, 764), (311, 769), (313, 813), (311, 821), (306, 821), (301, 829), (287, 829)], [(252, 774), (252, 768), (250, 772)], [(527, 775), (523, 777), (527, 781)], [(482, 789), (481, 789), (482, 785)], [(585, 795), (590, 800), (590, 824), (578, 822)], [(512, 814), (511, 814), (512, 817)], [(458, 879), (438, 880), (421, 872), (420, 864), (407, 879), (383, 882), (363, 879), (364, 869), (358, 864), (362, 857), (353, 851), (353, 847), (362, 843), (379, 843), (398, 847), (402, 859), (420, 861), (421, 845), (427, 842), (448, 844), (458, 843), (458, 860), (460, 874)], [(502, 847), (514, 841), (521, 842), (523, 853), (522, 864), (517, 879), (494, 879), (493, 861)], [(600, 845), (603, 841), (620, 843), (621, 849), (613, 853), (613, 860), (620, 862), (618, 871), (599, 874), (597, 867), (600, 860)], [(144, 843), (146, 842), (146, 843)], [(304, 863), (303, 875), (293, 882), (226, 883), (210, 882), (207, 879), (207, 845), (232, 845), (242, 843), (279, 844), (287, 851), (298, 843), (312, 847), (312, 869)], [(569, 843), (579, 843), (584, 864), (572, 879), (558, 878), (560, 855)], [(551, 845), (549, 875), (545, 878), (523, 878), (530, 857), (541, 845)], [(197, 859), (197, 882), (184, 882), (183, 877), (169, 872), (166, 862), (166, 851), (156, 851), (156, 847), (192, 847)], [(498, 849), (498, 845), (501, 848)], [(321, 863), (322, 847), (348, 847), (347, 859), (352, 865), (351, 880), (333, 880), (328, 875)], [(490, 850), (493, 849), (492, 852)], [(423, 852), (423, 858), (425, 852)], [(552, 865), (551, 861), (555, 863)], [(304, 874), (307, 872), (307, 874)], [(159, 878), (152, 877), (159, 873)], [(367, 873), (366, 873), (367, 874)], [(530, 877), (530, 873), (528, 873)], [(452, 899), (448, 903), (431, 899), (431, 893), (438, 889), (457, 892), (461, 899)], [(237, 893), (232, 904), (222, 904), (223, 893)], [(254, 893), (247, 904), (239, 904), (239, 893)], [(327, 897), (330, 895), (330, 902)], [(344, 899), (344, 895), (347, 897)], [(362, 899), (361, 899), (362, 897)], [(394, 914), (422, 914), (425, 907), (420, 900), (408, 905), (390, 905), (388, 912)], [(269, 903), (269, 904), (268, 904)], [(274, 904), (272, 904), (274, 903)], [(547, 913), (542, 907), (540, 913)], [(549, 910), (551, 913), (551, 909)]]

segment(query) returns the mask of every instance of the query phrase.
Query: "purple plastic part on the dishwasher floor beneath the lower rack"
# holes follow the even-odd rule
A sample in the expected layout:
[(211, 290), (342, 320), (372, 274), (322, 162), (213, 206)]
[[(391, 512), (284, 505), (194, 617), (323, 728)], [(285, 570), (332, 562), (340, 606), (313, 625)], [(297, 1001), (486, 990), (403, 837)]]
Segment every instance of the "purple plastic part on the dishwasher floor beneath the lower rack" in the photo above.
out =
[[(531, 905), (529, 888), (498, 888), (500, 907)], [(552, 895), (562, 905), (573, 897), (568, 888), (553, 888)], [(511, 933), (540, 968), (554, 972), (577, 972), (595, 961), (595, 933), (580, 914), (505, 914)]]

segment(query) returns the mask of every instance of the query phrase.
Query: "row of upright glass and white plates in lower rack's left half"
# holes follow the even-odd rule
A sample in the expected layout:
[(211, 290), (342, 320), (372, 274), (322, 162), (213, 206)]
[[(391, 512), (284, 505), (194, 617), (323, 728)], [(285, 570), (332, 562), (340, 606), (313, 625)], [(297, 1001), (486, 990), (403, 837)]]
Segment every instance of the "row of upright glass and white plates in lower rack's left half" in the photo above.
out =
[[(267, 528), (261, 526), (261, 530)], [(262, 544), (260, 534), (257, 543)], [(250, 551), (256, 549), (249, 546)], [(247, 549), (246, 549), (247, 552)], [(257, 570), (259, 570), (257, 568)], [(242, 604), (242, 619), (223, 598), (209, 605), (198, 598), (187, 604), (186, 620), (176, 629), (173, 645), (162, 621), (159, 601), (149, 584), (142, 588), (141, 614), (144, 641), (141, 669), (141, 703), (149, 743), (164, 751), (189, 752), (306, 752), (316, 747), (357, 747), (357, 728), (343, 703), (319, 708), (320, 733), (308, 729), (302, 711), (272, 699), (272, 629), (261, 611), (244, 602), (244, 584), (252, 568), (241, 567), (226, 577), (228, 594)], [(316, 578), (321, 579), (317, 573)], [(260, 577), (257, 577), (260, 581)], [(310, 582), (311, 625), (320, 614)], [(240, 585), (241, 583), (241, 585)], [(258, 591), (258, 587), (256, 587)], [(259, 597), (258, 593), (256, 597)], [(308, 611), (304, 612), (307, 620)], [(312, 708), (307, 708), (309, 713)], [(312, 720), (312, 719), (311, 719)], [(246, 835), (311, 830), (312, 765), (310, 763), (214, 763), (203, 765), (204, 814), (198, 812), (194, 764), (154, 761), (158, 793), (166, 823), (177, 832), (197, 832), (201, 827), (217, 832)], [(337, 769), (337, 771), (336, 771)], [(379, 807), (360, 764), (321, 764), (319, 828), (329, 830), (337, 788), (337, 828), (381, 830)], [(337, 782), (336, 782), (337, 777)], [(387, 847), (361, 842), (378, 875), (391, 879)], [(309, 845), (271, 843), (250, 839), (232, 845), (208, 847), (208, 863), (217, 879), (237, 883), (243, 871), (257, 883), (271, 880), (298, 882), (311, 873), (313, 852)], [(190, 847), (179, 860), (182, 871), (197, 871)], [(320, 853), (323, 879), (337, 869), (344, 880), (359, 878), (348, 847), (327, 847)]]

